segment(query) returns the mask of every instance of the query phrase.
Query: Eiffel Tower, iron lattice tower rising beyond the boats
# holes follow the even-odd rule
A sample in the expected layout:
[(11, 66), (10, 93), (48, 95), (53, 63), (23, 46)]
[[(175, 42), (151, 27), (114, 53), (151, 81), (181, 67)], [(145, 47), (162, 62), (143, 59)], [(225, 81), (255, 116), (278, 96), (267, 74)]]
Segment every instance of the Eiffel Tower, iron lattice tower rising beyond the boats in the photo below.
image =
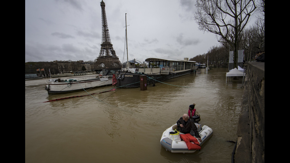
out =
[(105, 11), (105, 3), (102, 0), (101, 8), (102, 8), (102, 44), (99, 57), (95, 62), (95, 68), (122, 68), (122, 63), (117, 57), (115, 50), (113, 49), (113, 44), (111, 43), (106, 11)]

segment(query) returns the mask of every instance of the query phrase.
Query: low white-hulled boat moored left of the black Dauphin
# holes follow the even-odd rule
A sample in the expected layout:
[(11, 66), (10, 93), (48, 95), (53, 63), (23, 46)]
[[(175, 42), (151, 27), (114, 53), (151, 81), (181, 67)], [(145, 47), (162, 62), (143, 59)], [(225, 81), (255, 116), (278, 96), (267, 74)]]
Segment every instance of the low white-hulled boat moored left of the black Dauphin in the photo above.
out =
[(112, 85), (113, 75), (104, 69), (99, 75), (88, 77), (50, 79), (45, 83), (48, 94), (62, 94)]

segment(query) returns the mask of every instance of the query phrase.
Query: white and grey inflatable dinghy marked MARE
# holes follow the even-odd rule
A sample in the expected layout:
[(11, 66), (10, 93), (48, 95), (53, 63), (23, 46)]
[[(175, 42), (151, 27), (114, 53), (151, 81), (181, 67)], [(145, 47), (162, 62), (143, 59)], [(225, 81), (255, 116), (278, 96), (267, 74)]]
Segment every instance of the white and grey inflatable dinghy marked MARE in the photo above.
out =
[[(176, 124), (174, 124), (176, 125)], [(172, 127), (174, 126), (172, 125), (170, 128), (167, 128), (160, 139), (160, 144), (162, 147), (164, 147), (166, 149), (166, 151), (170, 151), (172, 153), (194, 153), (196, 150), (189, 150), (186, 142), (181, 140), (181, 141), (174, 141), (173, 139), (170, 138), (170, 132), (174, 132), (174, 130), (172, 129)], [(212, 129), (209, 128), (207, 125), (203, 125), (202, 126), (202, 130), (199, 131), (199, 135), (202, 139), (202, 142), (198, 141), (199, 145), (202, 146), (202, 144), (207, 141), (210, 136), (212, 136)], [(183, 134), (183, 133), (180, 133)], [(198, 139), (197, 139), (198, 140)], [(193, 143), (193, 142), (191, 142)]]

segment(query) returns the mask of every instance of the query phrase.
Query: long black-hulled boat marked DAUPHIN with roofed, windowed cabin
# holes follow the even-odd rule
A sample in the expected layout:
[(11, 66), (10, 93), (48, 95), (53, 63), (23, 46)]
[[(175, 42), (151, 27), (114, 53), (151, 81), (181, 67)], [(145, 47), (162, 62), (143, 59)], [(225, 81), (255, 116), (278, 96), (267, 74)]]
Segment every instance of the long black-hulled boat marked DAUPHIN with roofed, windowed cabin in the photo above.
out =
[(169, 60), (160, 58), (147, 58), (149, 68), (130, 68), (116, 71), (116, 86), (120, 88), (140, 87), (140, 75), (146, 75), (147, 85), (156, 82), (188, 75), (196, 71), (195, 61)]

